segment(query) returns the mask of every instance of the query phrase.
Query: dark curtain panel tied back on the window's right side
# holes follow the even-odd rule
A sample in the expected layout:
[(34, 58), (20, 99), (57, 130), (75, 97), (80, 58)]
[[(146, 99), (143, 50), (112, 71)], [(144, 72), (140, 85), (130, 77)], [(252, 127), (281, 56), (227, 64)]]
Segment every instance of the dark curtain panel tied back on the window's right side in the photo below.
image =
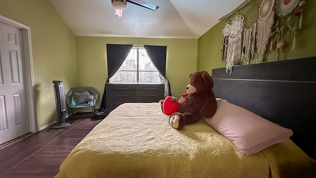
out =
[(166, 78), (167, 46), (144, 45), (144, 48), (159, 72), (161, 83), (164, 84), (164, 97), (171, 96), (170, 84)]

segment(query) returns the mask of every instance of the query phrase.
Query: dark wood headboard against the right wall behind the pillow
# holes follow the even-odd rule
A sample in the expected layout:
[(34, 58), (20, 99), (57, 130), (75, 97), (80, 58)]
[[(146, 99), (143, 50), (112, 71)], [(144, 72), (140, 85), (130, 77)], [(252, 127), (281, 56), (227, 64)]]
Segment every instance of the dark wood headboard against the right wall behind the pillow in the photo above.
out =
[(216, 97), (291, 129), (290, 139), (316, 159), (316, 57), (213, 69)]

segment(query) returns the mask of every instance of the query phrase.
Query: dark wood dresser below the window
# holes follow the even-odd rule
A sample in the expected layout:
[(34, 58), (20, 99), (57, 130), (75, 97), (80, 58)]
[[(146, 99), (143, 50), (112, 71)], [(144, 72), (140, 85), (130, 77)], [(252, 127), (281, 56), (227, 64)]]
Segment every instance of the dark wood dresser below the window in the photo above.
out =
[(164, 99), (164, 84), (106, 85), (107, 112), (126, 102), (158, 102)]

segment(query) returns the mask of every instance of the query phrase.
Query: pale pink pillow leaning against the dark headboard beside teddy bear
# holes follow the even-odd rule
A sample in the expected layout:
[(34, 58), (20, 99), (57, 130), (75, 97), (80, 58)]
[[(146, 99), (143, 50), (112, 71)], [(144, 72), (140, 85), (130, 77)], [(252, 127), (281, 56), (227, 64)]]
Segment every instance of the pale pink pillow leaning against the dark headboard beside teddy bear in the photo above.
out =
[(231, 140), (244, 155), (289, 138), (293, 132), (242, 107), (221, 100), (212, 118), (203, 118), (217, 132)]

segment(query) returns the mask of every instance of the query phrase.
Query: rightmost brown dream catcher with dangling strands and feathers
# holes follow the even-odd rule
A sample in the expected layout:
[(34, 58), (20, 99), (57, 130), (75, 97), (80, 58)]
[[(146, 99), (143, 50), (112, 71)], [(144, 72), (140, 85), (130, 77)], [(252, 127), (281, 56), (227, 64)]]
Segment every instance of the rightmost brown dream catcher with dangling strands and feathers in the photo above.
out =
[(270, 34), (272, 37), (270, 50), (277, 48), (278, 57), (284, 52), (287, 41), (292, 44), (292, 49), (296, 46), (296, 33), (302, 28), (302, 11), (305, 0), (276, 0), (276, 25)]

